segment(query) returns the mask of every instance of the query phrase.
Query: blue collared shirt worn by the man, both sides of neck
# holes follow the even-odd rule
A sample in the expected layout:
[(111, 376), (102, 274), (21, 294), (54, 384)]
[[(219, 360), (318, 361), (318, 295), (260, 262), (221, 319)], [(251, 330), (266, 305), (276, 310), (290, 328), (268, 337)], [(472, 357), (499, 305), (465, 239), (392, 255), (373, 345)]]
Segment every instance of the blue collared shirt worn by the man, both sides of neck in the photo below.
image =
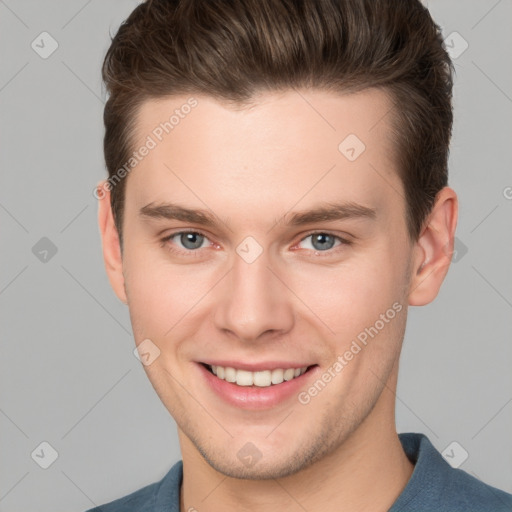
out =
[[(399, 434), (415, 464), (405, 489), (389, 512), (512, 512), (512, 494), (452, 468), (423, 434)], [(183, 463), (154, 484), (86, 512), (180, 512)]]

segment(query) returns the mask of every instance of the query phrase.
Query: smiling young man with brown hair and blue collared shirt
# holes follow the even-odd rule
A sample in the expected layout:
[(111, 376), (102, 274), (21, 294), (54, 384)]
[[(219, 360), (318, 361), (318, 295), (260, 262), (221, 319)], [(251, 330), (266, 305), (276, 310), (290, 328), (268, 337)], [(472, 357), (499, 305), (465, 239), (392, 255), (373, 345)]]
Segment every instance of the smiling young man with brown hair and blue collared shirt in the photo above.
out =
[(421, 3), (147, 1), (103, 78), (106, 269), (183, 460), (94, 510), (512, 510), (395, 427), (457, 223)]

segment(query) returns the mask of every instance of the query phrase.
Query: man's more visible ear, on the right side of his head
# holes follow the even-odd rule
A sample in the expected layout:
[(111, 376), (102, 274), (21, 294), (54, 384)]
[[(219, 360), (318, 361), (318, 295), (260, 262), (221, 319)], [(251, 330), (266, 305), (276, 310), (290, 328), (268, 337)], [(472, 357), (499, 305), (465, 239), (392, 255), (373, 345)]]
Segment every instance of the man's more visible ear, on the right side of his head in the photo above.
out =
[(409, 305), (432, 302), (448, 273), (457, 227), (457, 194), (450, 187), (441, 189), (414, 248)]

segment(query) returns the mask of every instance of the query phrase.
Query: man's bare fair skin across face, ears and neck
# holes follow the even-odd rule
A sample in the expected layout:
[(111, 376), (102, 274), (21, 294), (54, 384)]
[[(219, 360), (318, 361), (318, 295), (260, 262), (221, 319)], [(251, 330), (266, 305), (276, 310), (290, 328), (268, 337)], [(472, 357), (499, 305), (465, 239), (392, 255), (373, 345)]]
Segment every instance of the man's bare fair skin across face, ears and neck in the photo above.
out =
[[(111, 285), (136, 344), (149, 338), (160, 350), (144, 369), (178, 425), (181, 510), (388, 510), (413, 471), (394, 421), (407, 306), (439, 291), (457, 196), (441, 190), (418, 241), (408, 238), (383, 91), (264, 93), (237, 110), (194, 97), (198, 106), (129, 174), (122, 255), (108, 193), (99, 204)], [(187, 99), (145, 103), (140, 143)], [(348, 134), (366, 146), (353, 162), (338, 150)], [(376, 217), (275, 224), (339, 200)], [(139, 215), (167, 201), (222, 221), (205, 229)], [(180, 230), (207, 238), (199, 249), (180, 236), (162, 242)], [(322, 248), (311, 230), (352, 243)], [(247, 236), (263, 249), (250, 264), (236, 252)], [(293, 397), (243, 410), (197, 378), (196, 361), (211, 358), (310, 361), (322, 373), (394, 303), (401, 312), (307, 405)], [(262, 454), (251, 468), (237, 457), (248, 442)]]

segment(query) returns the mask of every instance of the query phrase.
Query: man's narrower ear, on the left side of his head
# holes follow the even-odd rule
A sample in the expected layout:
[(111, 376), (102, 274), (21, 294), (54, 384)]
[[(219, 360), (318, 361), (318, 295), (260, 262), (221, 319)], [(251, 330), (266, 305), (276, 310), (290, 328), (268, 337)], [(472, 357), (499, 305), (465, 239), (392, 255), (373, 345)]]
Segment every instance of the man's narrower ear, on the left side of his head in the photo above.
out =
[(114, 223), (114, 216), (110, 206), (110, 187), (107, 180), (96, 185), (95, 196), (98, 198), (98, 224), (103, 247), (103, 260), (107, 271), (110, 286), (121, 302), (128, 303), (124, 287), (123, 260), (119, 234)]

